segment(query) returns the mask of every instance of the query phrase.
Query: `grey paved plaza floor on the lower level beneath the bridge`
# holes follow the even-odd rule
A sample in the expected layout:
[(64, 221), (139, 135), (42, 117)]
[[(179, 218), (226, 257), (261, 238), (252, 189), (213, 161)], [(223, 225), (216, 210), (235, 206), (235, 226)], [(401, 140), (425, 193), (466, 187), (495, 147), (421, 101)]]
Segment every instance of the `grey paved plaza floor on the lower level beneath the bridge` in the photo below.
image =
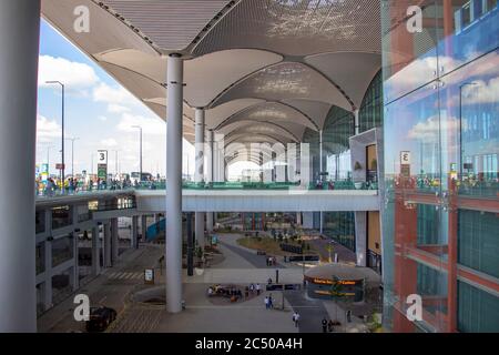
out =
[[(140, 250), (128, 251), (112, 268), (86, 284), (79, 293), (88, 293), (92, 304), (103, 304), (118, 311), (118, 320), (108, 332), (113, 333), (320, 333), (320, 322), (336, 317), (336, 305), (332, 301), (310, 300), (304, 290), (266, 292), (247, 301), (231, 303), (213, 302), (206, 295), (207, 287), (216, 284), (235, 284), (245, 287), (259, 283), (265, 290), (268, 277), (275, 281), (276, 272), (281, 283), (303, 284), (304, 268), (277, 260), (277, 265), (266, 266), (265, 256), (237, 244), (241, 234), (218, 234), (223, 261), (212, 267), (196, 268), (193, 276), (183, 273), (185, 310), (177, 314), (165, 311), (164, 304), (139, 302), (134, 297), (143, 290), (164, 294), (164, 272), (156, 268), (155, 285), (143, 282), (143, 270), (157, 266), (164, 254), (163, 245), (142, 245)], [(139, 275), (139, 276), (138, 276)], [(149, 288), (147, 288), (149, 287)], [(264, 298), (272, 294), (274, 308), (266, 310)], [(284, 302), (284, 305), (283, 305)], [(41, 332), (81, 332), (82, 323), (72, 317), (72, 297), (50, 310), (39, 318)], [(301, 315), (295, 327), (292, 314)], [(343, 320), (345, 311), (337, 311)], [(354, 323), (361, 323), (354, 317)]]

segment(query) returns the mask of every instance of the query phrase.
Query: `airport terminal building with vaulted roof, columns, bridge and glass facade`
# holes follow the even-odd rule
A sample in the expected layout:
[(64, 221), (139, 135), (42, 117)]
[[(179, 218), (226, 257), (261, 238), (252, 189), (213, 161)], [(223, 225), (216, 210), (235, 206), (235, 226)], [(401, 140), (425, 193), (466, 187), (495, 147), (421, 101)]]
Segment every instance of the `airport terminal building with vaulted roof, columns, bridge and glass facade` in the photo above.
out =
[[(166, 122), (166, 186), (35, 197), (40, 18)], [(19, 176), (0, 183), (0, 331), (35, 331), (54, 283), (113, 265), (119, 217), (136, 247), (165, 214), (179, 313), (183, 213), (204, 245), (216, 213), (285, 212), (381, 276), (387, 331), (499, 332), (498, 1), (18, 0), (0, 23), (0, 176)], [(228, 189), (242, 161), (259, 184)]]

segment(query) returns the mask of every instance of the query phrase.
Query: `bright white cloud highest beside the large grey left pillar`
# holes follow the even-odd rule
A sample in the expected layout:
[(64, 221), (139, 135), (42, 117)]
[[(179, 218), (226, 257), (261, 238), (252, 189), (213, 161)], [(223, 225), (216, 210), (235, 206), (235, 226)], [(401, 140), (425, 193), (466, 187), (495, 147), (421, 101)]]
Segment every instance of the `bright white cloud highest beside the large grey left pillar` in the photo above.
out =
[(64, 58), (40, 55), (38, 83), (42, 88), (51, 87), (47, 81), (61, 81), (68, 90), (84, 90), (95, 85), (99, 77), (92, 67), (73, 62)]

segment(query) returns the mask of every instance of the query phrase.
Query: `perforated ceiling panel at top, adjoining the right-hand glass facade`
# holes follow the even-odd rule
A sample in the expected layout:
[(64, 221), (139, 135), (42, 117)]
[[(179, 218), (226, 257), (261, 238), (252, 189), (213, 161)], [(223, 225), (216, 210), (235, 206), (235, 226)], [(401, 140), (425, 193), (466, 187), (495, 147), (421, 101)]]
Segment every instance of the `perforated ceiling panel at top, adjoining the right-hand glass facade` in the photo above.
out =
[(243, 0), (194, 48), (201, 55), (233, 48), (287, 55), (380, 52), (379, 0)]

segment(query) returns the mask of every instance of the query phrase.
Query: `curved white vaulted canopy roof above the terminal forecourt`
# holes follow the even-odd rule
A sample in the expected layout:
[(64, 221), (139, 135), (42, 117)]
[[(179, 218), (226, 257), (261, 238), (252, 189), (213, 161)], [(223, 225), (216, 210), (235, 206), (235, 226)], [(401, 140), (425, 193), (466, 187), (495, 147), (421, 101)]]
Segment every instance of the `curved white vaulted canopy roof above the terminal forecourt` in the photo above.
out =
[[(73, 30), (90, 10), (91, 33)], [(358, 108), (380, 68), (378, 0), (43, 0), (43, 17), (166, 120), (166, 57), (185, 60), (194, 109), (232, 140), (296, 141), (333, 105)], [(253, 124), (252, 124), (253, 123)], [(257, 124), (255, 124), (257, 123)]]

